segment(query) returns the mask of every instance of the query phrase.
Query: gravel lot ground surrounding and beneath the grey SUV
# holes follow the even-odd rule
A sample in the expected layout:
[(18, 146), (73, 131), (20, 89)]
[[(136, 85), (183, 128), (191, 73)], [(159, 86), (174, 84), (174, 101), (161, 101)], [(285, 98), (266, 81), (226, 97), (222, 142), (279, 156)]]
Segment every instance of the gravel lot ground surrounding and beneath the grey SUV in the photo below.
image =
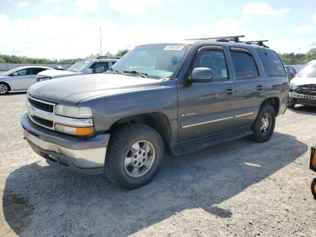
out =
[(247, 138), (167, 156), (149, 185), (47, 164), (23, 140), (25, 93), (0, 97), (0, 233), (20, 236), (316, 236), (310, 146), (316, 109), (288, 110), (265, 144)]

